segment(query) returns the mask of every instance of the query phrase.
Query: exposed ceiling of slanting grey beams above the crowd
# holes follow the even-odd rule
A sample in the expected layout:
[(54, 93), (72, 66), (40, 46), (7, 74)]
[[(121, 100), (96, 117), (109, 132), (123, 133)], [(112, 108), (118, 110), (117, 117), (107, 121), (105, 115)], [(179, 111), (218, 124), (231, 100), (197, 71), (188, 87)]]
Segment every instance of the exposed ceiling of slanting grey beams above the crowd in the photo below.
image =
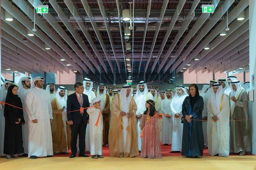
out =
[[(214, 13), (202, 13), (202, 4), (212, 3)], [(49, 13), (35, 14), (36, 5), (42, 4), (49, 5)], [(128, 76), (154, 84), (187, 69), (248, 71), (248, 4), (249, 0), (1, 0), (2, 72), (77, 71), (105, 84), (124, 84)], [(122, 11), (130, 8), (131, 21), (124, 21)], [(13, 21), (5, 20), (6, 12)], [(241, 14), (244, 19), (239, 21)], [(35, 36), (28, 36), (34, 24)], [(125, 37), (124, 29), (131, 25)], [(126, 50), (126, 43), (131, 43), (131, 50)]]

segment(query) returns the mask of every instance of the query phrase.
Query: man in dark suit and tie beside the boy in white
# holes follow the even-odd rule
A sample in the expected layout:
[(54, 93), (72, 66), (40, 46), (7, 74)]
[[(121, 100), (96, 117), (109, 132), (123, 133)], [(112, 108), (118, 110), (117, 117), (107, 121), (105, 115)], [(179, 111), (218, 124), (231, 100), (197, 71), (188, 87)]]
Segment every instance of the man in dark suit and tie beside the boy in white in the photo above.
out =
[[(67, 121), (71, 127), (71, 155), (77, 152), (76, 140), (79, 135), (79, 157), (89, 157), (85, 154), (85, 130), (89, 116), (84, 108), (89, 106), (88, 96), (84, 94), (83, 83), (75, 83), (75, 93), (67, 97)], [(78, 110), (78, 111), (74, 111)], [(72, 111), (72, 112), (70, 112)]]

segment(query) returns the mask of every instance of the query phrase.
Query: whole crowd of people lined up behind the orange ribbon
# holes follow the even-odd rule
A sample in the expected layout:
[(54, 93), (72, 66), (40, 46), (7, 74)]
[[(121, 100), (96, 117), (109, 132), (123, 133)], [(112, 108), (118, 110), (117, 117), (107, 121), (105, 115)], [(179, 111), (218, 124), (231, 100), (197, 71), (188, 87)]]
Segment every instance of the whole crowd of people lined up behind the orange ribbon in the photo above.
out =
[(0, 156), (35, 159), (68, 154), (70, 158), (161, 158), (161, 143), (186, 157), (228, 157), (251, 152), (248, 83), (235, 76), (204, 84), (178, 85), (158, 94), (140, 81), (106, 89), (85, 78), (75, 93), (44, 87), (44, 78), (24, 76), (16, 85), (5, 80), (0, 89)]

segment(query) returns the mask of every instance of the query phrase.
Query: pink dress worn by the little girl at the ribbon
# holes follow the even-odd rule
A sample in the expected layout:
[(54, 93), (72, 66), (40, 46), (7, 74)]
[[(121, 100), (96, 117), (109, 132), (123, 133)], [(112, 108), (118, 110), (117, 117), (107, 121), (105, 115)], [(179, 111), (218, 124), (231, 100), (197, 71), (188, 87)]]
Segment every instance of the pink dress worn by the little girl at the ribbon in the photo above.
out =
[(150, 115), (143, 114), (140, 127), (144, 129), (141, 142), (141, 157), (162, 158), (158, 116), (150, 117)]

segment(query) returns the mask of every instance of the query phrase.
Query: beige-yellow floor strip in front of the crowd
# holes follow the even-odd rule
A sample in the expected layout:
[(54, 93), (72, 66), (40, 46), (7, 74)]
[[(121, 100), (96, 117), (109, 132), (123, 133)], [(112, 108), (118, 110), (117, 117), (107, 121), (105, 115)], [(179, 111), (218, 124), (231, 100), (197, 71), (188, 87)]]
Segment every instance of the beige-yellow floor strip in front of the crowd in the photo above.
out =
[(163, 159), (105, 157), (45, 157), (7, 160), (0, 157), (0, 170), (256, 170), (256, 156), (163, 157)]

